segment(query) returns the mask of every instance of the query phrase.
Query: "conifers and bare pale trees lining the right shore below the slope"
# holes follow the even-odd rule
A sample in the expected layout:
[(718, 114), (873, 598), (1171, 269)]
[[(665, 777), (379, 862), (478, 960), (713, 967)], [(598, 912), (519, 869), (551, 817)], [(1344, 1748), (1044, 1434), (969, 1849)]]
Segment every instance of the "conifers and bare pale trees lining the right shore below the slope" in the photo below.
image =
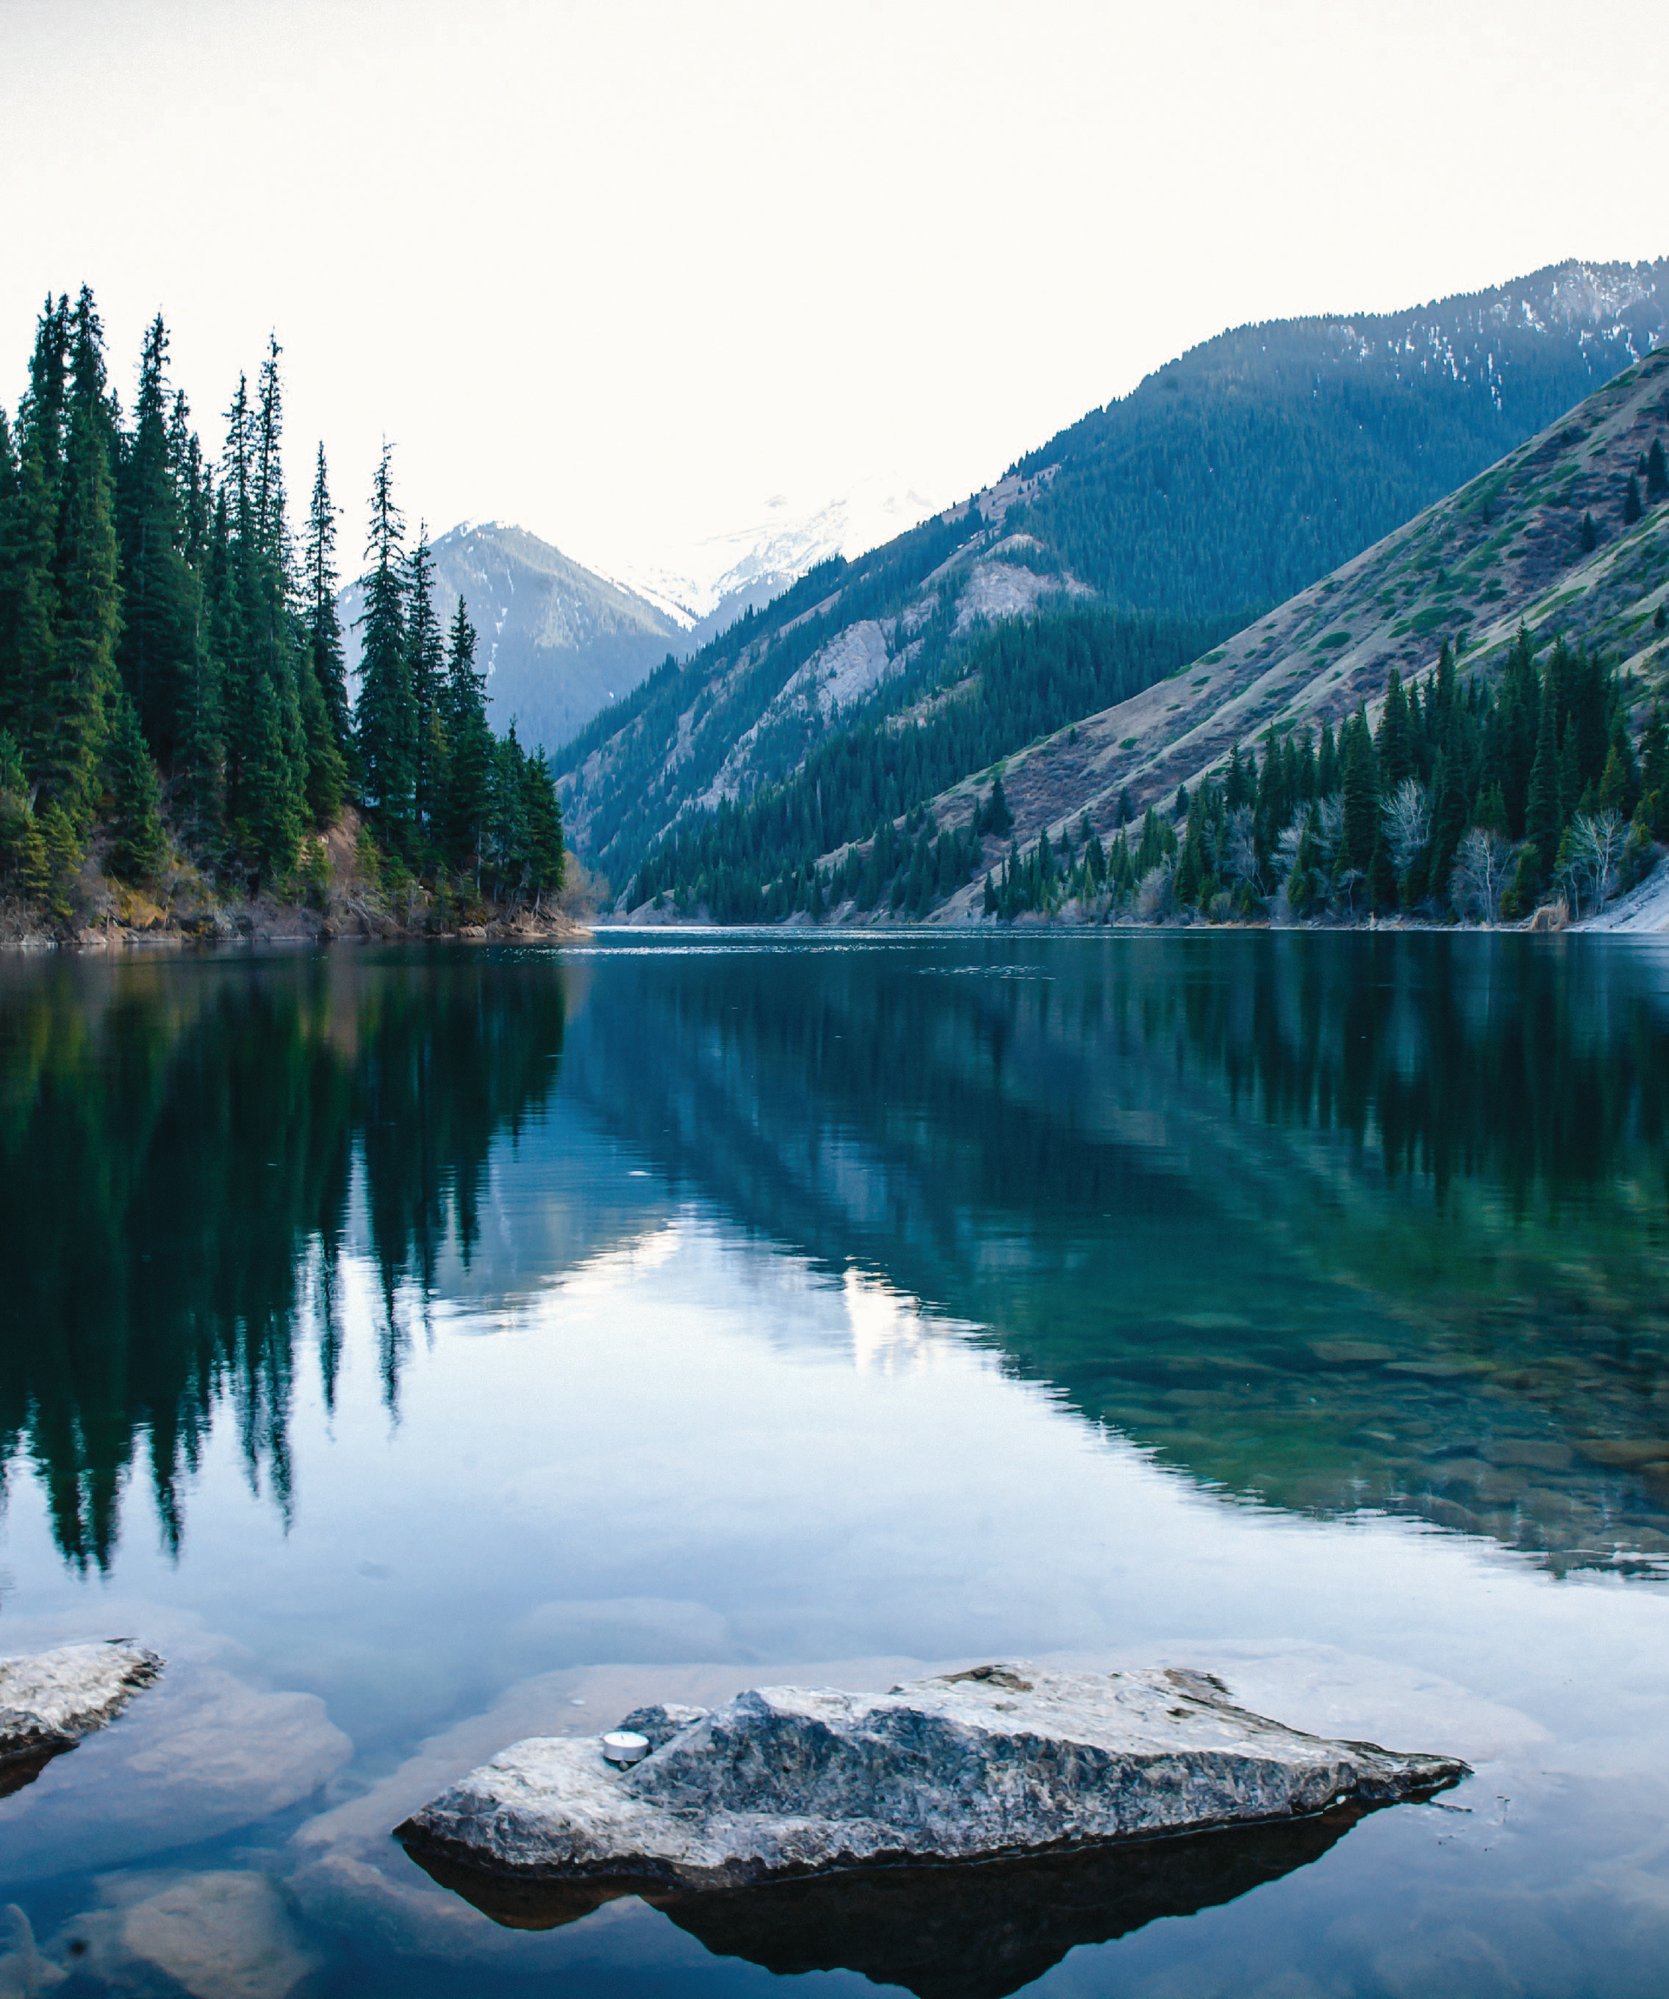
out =
[[(1493, 924), (1545, 896), (1591, 914), (1669, 840), (1669, 726), (1597, 654), (1519, 632), (1493, 684), (1443, 646), (1425, 686), (1391, 670), (1379, 726), (1271, 732), (1221, 778), (1103, 844), (1083, 820), (985, 878), (987, 916), (1245, 922), (1405, 912)], [(1121, 814), (1123, 818), (1123, 814)]]

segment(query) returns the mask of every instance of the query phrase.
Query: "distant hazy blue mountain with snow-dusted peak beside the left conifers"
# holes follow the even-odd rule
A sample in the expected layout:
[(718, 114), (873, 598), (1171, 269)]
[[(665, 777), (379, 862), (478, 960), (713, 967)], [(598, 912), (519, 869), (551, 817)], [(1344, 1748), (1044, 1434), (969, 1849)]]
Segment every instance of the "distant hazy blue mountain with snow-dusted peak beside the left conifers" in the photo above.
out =
[[(442, 624), (462, 596), (480, 634), (494, 728), (514, 722), (528, 746), (568, 742), (684, 642), (662, 606), (504, 522), (440, 536), (434, 574)], [(364, 590), (350, 584), (340, 598), (348, 632), (362, 610)]]

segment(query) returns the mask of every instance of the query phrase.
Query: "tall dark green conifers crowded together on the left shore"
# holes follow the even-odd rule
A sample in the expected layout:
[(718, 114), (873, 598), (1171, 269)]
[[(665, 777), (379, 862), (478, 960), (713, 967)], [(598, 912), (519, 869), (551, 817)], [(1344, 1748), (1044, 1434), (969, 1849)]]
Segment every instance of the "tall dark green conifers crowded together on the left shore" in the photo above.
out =
[(354, 688), (322, 446), (290, 522), (278, 340), (214, 462), (168, 346), (158, 316), (124, 410), (92, 292), (48, 298), (0, 410), (0, 898), (54, 926), (206, 922), (254, 896), (324, 908), (346, 866), (408, 928), (538, 906), (564, 880), (556, 788), (514, 728), (494, 738), (390, 450)]

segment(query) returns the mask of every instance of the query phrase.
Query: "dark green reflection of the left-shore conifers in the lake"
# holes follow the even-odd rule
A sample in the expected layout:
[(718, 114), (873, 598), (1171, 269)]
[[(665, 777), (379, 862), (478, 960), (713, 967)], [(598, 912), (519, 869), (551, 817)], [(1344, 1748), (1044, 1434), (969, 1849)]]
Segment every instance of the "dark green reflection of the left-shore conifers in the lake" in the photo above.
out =
[(550, 972), (464, 954), (376, 962), (18, 968), (0, 988), (0, 1461), (22, 1447), (64, 1555), (106, 1567), (144, 1459), (164, 1539), (218, 1407), (290, 1507), (298, 1327), (326, 1397), (350, 1227), (396, 1295), (468, 1257), (500, 1131), (548, 1099)]

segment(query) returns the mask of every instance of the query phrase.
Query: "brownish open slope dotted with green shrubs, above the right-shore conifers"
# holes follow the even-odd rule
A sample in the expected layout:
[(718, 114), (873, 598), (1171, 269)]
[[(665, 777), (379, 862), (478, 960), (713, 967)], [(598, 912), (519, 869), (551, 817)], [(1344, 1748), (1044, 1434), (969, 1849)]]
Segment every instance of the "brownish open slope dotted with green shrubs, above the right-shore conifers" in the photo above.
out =
[[(1669, 454), (1669, 350), (1179, 676), (1007, 760), (1013, 838), (1053, 836), (1085, 812), (1105, 832), (1121, 802), (1139, 812), (1167, 800), (1269, 728), (1371, 710), (1393, 666), (1405, 680), (1429, 672), (1443, 640), (1463, 672), (1489, 672), (1525, 626), (1537, 646), (1581, 642), (1643, 686), (1661, 684), (1669, 500), (1649, 500), (1653, 444)], [(931, 810), (943, 828), (971, 822), (977, 788), (953, 788)], [(969, 870), (941, 916), (971, 914), (975, 896)]]

